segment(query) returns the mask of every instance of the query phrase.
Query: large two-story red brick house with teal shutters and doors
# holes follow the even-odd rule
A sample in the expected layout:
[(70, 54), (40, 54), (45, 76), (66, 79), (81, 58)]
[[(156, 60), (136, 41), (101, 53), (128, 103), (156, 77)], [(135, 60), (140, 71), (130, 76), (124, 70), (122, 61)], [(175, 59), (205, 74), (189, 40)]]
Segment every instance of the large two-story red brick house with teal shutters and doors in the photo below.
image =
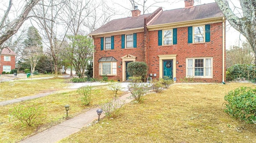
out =
[(226, 20), (216, 3), (112, 20), (91, 32), (95, 51), (94, 78), (126, 81), (127, 63), (144, 61), (153, 78), (169, 76), (182, 82), (225, 81)]

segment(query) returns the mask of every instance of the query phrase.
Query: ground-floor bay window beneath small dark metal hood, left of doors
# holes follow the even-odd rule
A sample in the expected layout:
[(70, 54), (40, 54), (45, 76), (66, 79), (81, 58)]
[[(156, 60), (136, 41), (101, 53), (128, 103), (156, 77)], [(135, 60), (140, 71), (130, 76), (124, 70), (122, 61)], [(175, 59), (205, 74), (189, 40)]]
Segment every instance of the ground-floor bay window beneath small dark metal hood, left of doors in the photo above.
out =
[(116, 76), (117, 62), (99, 62), (99, 75)]

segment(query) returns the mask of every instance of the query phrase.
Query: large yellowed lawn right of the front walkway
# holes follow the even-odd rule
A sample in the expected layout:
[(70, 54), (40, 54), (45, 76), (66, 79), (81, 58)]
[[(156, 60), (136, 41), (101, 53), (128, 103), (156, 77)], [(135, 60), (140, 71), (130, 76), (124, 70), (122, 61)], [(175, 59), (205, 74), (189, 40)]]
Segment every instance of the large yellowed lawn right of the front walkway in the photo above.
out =
[(60, 143), (256, 143), (256, 125), (224, 113), (224, 96), (249, 83), (173, 84), (129, 103), (116, 119), (99, 123)]

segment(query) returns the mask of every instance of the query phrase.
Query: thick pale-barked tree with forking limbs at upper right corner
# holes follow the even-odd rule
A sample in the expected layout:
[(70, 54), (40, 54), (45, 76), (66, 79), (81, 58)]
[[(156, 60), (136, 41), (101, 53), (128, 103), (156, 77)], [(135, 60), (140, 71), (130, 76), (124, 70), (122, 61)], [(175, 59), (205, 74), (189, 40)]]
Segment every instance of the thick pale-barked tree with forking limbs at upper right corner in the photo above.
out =
[[(239, 31), (250, 43), (252, 50), (254, 51), (254, 57), (256, 56), (256, 1), (255, 0), (240, 0), (241, 9), (234, 6), (238, 11), (241, 11), (239, 15), (230, 8), (230, 5), (226, 0), (215, 0), (218, 7), (228, 20), (230, 25)], [(234, 5), (234, 4), (233, 4)], [(256, 64), (256, 58), (254, 63)]]

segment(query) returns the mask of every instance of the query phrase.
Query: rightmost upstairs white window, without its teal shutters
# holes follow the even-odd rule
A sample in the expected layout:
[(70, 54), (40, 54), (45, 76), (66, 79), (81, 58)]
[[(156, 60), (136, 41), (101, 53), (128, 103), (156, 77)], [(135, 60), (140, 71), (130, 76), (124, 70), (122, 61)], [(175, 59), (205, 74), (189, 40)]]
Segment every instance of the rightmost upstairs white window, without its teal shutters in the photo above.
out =
[[(201, 28), (198, 29), (198, 27), (202, 27), (202, 29)], [(201, 36), (203, 36), (203, 37), (201, 37)], [(201, 38), (203, 38), (203, 40), (196, 41), (195, 39), (198, 39), (196, 37), (201, 37)], [(204, 41), (205, 41), (205, 25), (193, 26), (193, 43), (204, 43)]]

